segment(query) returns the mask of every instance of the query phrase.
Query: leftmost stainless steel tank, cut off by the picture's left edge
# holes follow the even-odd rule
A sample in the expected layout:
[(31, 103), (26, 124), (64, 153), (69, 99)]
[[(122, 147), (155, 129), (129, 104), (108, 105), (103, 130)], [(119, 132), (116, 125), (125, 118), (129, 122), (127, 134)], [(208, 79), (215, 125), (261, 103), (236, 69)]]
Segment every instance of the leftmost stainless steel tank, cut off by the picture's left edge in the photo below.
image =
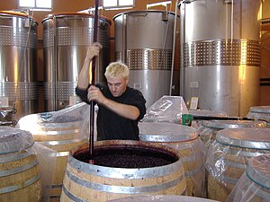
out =
[(27, 13), (0, 12), (0, 105), (15, 119), (38, 111), (37, 27)]

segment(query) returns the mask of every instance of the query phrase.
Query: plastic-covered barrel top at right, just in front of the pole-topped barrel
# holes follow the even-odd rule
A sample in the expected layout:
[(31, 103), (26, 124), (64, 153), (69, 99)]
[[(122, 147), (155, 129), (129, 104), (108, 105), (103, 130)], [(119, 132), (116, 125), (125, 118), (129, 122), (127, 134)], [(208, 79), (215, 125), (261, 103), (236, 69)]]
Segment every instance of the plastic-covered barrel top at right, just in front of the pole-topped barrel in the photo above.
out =
[(270, 128), (226, 128), (217, 133), (221, 145), (270, 150)]

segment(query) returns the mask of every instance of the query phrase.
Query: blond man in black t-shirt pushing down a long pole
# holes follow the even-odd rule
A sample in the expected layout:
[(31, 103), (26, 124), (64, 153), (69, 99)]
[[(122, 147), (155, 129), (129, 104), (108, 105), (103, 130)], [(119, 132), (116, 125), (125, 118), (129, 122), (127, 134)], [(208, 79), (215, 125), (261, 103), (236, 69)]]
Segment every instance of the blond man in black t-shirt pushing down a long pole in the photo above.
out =
[(76, 94), (82, 101), (98, 105), (97, 140), (139, 140), (138, 122), (146, 113), (146, 101), (141, 92), (128, 86), (129, 68), (121, 62), (111, 63), (104, 74), (107, 86), (89, 85), (89, 65), (101, 48), (95, 42), (87, 49)]

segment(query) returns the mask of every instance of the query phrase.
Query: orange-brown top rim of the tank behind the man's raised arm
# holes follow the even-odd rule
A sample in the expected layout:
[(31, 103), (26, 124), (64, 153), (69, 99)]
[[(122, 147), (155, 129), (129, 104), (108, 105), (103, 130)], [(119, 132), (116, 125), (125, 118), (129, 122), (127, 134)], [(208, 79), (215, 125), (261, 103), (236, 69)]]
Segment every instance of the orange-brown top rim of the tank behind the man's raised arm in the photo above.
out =
[[(42, 20), (42, 22), (48, 20), (48, 19), (52, 19), (54, 17), (57, 18), (63, 18), (63, 17), (74, 17), (74, 16), (79, 16), (79, 17), (85, 17), (85, 18), (94, 18), (94, 14), (91, 13), (76, 13), (76, 12), (59, 12), (59, 13), (49, 13), (45, 16), (45, 18)], [(106, 22), (108, 22), (110, 25), (112, 25), (112, 21), (105, 16), (102, 15), (98, 15), (99, 19), (101, 20), (105, 20)]]

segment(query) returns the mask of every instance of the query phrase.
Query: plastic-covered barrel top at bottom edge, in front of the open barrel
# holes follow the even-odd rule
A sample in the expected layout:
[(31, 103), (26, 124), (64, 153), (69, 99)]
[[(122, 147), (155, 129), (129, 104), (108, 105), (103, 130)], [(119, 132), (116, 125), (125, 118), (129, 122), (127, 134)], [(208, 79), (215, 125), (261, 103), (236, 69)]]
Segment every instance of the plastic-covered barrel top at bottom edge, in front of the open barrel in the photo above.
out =
[(175, 195), (139, 195), (128, 198), (119, 198), (109, 200), (110, 202), (214, 202), (215, 200), (206, 198), (194, 198), (186, 196), (175, 196)]

